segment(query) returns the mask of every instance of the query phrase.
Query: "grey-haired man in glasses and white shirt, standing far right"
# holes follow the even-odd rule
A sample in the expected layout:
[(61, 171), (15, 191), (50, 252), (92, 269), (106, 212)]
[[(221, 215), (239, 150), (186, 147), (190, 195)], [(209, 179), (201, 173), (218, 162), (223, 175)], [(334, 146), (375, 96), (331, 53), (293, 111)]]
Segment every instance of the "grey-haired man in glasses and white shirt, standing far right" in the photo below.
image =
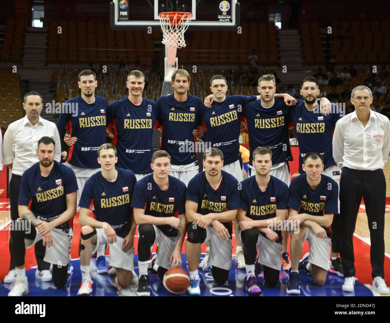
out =
[(342, 168), (340, 179), (340, 256), (345, 282), (342, 290), (353, 292), (355, 266), (353, 232), (364, 197), (371, 239), (372, 287), (389, 294), (385, 284), (386, 180), (383, 166), (390, 152), (390, 121), (372, 111), (372, 92), (357, 86), (351, 93), (355, 111), (341, 118), (333, 134), (333, 158)]

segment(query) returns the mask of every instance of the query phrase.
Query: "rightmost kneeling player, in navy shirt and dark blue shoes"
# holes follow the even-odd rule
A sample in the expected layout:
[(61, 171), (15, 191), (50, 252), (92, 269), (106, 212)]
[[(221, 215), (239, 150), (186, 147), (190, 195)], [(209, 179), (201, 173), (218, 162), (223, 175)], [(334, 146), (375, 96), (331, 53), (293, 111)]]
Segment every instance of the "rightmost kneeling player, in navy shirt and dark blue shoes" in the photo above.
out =
[[(322, 155), (307, 153), (302, 168), (306, 173), (294, 178), (289, 188), (291, 273), (287, 294), (300, 294), (298, 269), (310, 273), (318, 286), (325, 284), (330, 267), (332, 232), (329, 227), (333, 214), (339, 213), (339, 186), (332, 178), (321, 175), (324, 170)], [(310, 253), (299, 261), (306, 240)]]

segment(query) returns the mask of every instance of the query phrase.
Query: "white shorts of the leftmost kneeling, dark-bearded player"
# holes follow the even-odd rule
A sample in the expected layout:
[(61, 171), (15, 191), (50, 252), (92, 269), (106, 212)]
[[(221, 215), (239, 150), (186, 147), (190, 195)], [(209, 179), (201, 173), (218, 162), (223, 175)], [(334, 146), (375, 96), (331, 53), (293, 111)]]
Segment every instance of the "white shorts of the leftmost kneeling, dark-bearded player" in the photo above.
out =
[[(43, 239), (42, 236), (38, 233), (38, 229), (35, 228), (35, 230), (37, 232), (37, 235), (35, 236), (34, 240), (25, 238), (26, 248), (30, 248), (39, 240)], [(53, 264), (56, 266), (66, 266), (67, 264), (69, 264), (73, 231), (72, 229), (61, 230), (53, 228), (50, 233), (53, 237), (53, 245), (50, 247), (46, 247), (46, 252), (43, 260), (48, 262), (49, 264)]]

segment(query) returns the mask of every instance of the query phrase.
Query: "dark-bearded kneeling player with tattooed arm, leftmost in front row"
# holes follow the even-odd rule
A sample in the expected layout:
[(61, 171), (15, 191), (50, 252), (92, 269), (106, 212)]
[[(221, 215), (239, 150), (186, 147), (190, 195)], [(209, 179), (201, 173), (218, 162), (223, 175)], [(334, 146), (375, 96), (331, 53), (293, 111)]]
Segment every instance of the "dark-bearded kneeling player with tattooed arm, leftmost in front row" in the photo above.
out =
[(8, 296), (28, 293), (25, 248), (40, 240), (46, 247), (44, 261), (53, 264), (54, 285), (64, 287), (68, 277), (72, 223), (76, 214), (76, 177), (69, 167), (54, 161), (55, 141), (50, 137), (39, 139), (36, 152), (39, 163), (28, 168), (21, 177), (18, 211), (19, 217), (25, 220), (25, 230), (22, 240), (13, 241), (16, 282)]

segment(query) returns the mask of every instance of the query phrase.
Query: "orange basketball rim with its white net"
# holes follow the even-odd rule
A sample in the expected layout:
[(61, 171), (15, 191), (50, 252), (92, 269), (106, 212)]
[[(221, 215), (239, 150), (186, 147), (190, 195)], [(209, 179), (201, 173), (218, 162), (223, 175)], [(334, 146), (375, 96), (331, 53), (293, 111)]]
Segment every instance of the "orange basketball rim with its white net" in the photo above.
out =
[(161, 12), (160, 25), (163, 30), (163, 40), (161, 43), (167, 48), (182, 48), (186, 46), (184, 41), (184, 32), (190, 25), (192, 14), (175, 14), (174, 18), (170, 18), (169, 13)]

